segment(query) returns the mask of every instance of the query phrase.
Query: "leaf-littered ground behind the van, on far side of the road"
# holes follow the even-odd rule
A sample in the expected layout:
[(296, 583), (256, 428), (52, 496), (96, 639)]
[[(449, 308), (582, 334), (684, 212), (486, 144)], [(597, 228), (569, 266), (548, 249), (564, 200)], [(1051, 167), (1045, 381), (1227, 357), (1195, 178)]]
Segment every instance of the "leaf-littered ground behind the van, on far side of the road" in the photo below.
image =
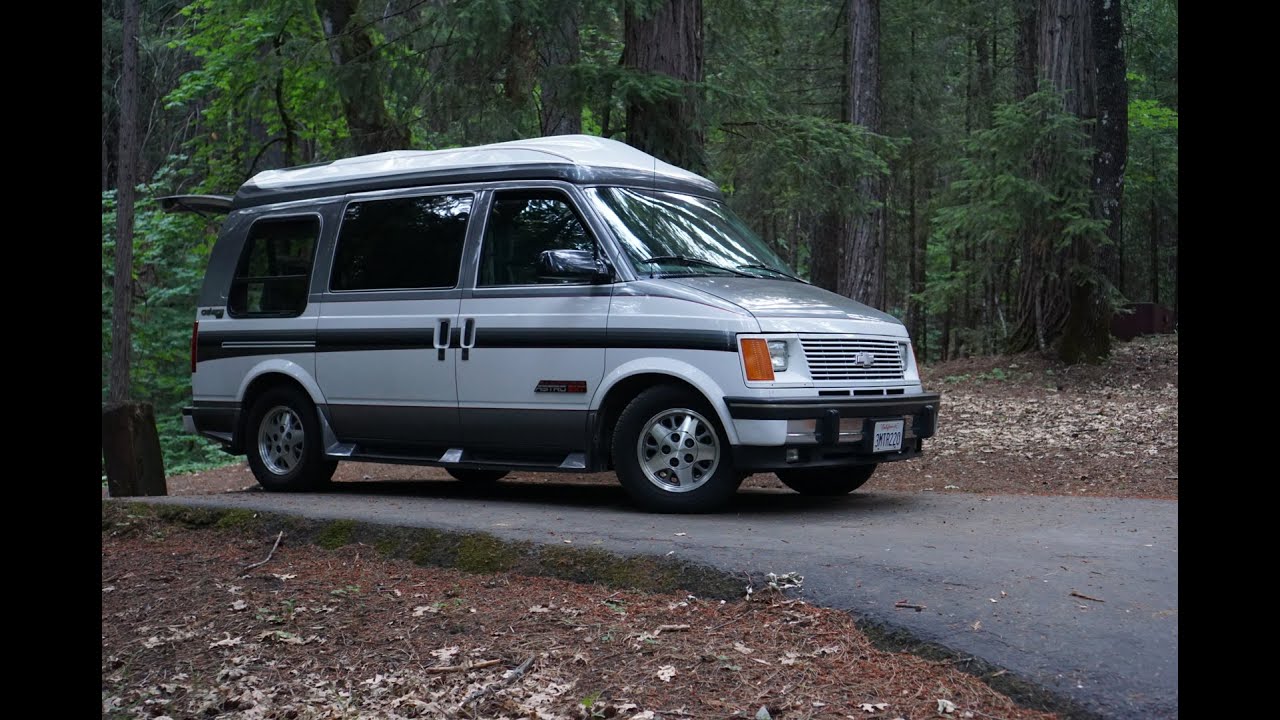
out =
[[(864, 491), (1178, 498), (1178, 337), (1116, 342), (1098, 366), (1038, 355), (924, 368), (942, 393), (938, 433), (915, 460), (881, 466)], [(344, 462), (339, 482), (447, 479), (438, 468)], [(513, 473), (506, 482), (617, 483), (612, 473)], [(746, 487), (782, 488), (773, 474)], [(169, 478), (170, 495), (256, 489), (242, 461)]]

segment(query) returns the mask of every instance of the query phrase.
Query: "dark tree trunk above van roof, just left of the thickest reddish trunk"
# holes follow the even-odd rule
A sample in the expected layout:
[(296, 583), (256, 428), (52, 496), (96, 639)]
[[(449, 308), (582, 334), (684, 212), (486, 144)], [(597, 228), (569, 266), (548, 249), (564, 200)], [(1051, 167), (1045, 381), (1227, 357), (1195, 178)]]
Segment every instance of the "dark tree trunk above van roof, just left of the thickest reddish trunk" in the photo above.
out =
[(550, 24), (539, 38), (541, 60), (541, 131), (543, 135), (577, 135), (582, 132), (582, 102), (575, 92), (572, 67), (581, 54), (579, 41), (577, 0), (556, 5)]

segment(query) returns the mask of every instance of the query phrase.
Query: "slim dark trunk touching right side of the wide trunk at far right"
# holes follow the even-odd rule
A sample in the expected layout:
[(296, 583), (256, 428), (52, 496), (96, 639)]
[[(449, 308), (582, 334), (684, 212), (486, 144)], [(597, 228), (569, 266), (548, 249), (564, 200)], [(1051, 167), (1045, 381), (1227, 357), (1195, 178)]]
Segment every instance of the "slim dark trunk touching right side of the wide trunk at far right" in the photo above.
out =
[(1093, 192), (1098, 218), (1107, 222), (1108, 243), (1098, 249), (1100, 269), (1120, 282), (1124, 242), (1124, 172), (1129, 159), (1129, 85), (1125, 81), (1121, 0), (1091, 0), (1097, 61), (1098, 126), (1093, 131)]

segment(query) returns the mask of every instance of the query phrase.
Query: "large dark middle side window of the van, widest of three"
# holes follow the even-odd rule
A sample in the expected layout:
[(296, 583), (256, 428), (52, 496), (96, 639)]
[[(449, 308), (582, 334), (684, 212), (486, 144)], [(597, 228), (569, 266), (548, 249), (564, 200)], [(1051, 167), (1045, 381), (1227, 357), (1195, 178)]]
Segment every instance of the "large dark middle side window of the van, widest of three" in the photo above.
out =
[(470, 195), (347, 205), (329, 290), (422, 290), (458, 284)]

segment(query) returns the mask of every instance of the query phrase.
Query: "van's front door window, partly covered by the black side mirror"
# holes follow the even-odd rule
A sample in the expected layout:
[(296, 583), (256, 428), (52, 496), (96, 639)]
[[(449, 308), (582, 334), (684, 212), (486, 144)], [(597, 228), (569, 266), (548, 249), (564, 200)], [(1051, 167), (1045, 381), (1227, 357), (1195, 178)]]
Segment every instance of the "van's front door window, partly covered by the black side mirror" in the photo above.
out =
[(563, 279), (539, 277), (544, 250), (593, 252), (591, 236), (564, 193), (521, 190), (494, 193), (480, 249), (479, 286), (547, 284)]

